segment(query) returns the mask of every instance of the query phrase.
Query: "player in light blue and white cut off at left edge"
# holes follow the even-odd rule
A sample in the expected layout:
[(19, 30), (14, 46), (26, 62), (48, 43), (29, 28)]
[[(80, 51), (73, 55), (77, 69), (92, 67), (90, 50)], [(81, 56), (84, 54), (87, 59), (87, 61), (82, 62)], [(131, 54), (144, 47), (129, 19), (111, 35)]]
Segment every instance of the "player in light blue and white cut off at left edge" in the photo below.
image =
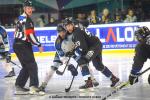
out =
[(11, 54), (9, 53), (9, 48), (9, 39), (6, 29), (3, 26), (0, 26), (0, 56), (1, 61), (3, 59), (6, 60), (6, 62), (3, 62), (4, 68), (9, 72), (5, 77), (15, 76), (14, 68), (10, 64)]

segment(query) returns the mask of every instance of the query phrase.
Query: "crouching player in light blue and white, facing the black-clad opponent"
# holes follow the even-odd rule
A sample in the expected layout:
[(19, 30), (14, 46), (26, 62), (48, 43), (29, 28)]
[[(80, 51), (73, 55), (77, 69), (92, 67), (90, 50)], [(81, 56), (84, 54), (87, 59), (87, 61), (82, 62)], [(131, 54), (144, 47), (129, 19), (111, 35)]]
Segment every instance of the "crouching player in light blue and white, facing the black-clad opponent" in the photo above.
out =
[[(72, 41), (70, 41), (68, 39), (68, 37), (66, 37), (66, 34), (67, 34), (66, 30), (63, 28), (63, 26), (61, 24), (58, 25), (57, 31), (58, 31), (58, 37), (55, 41), (56, 54), (55, 54), (55, 57), (53, 60), (53, 65), (51, 66), (51, 69), (46, 74), (44, 81), (42, 82), (41, 86), (39, 87), (39, 89), (43, 92), (45, 92), (45, 88), (46, 88), (49, 80), (51, 79), (51, 77), (53, 76), (55, 71), (57, 71), (59, 66), (61, 66), (64, 62), (68, 61), (68, 58), (70, 56), (72, 56), (74, 59), (76, 58), (74, 53), (70, 52), (74, 49), (74, 43), (72, 43)], [(74, 65), (69, 63), (68, 70), (71, 71), (71, 74), (73, 76), (77, 76), (78, 72), (75, 69)], [(91, 76), (93, 79), (94, 86), (98, 86), (99, 83), (95, 80), (93, 75), (91, 75)]]

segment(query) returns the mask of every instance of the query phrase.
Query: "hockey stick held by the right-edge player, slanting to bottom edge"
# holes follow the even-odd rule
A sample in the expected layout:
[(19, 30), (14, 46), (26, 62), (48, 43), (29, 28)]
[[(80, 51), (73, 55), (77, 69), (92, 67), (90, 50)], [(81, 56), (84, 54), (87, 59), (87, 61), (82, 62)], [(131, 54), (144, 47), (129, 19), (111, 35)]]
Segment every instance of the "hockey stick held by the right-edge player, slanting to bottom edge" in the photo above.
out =
[[(145, 69), (143, 72), (141, 72), (140, 74), (138, 74), (138, 77), (143, 75), (145, 72), (147, 72), (148, 70), (150, 70), (150, 67)], [(108, 97), (112, 96), (114, 93), (116, 93), (117, 91), (121, 90), (122, 88), (128, 86), (130, 84), (129, 81), (121, 84), (121, 86), (119, 86), (118, 88), (116, 88), (114, 91), (112, 91), (111, 93), (109, 93), (107, 96), (105, 96), (104, 98), (102, 98), (102, 100), (106, 100)]]

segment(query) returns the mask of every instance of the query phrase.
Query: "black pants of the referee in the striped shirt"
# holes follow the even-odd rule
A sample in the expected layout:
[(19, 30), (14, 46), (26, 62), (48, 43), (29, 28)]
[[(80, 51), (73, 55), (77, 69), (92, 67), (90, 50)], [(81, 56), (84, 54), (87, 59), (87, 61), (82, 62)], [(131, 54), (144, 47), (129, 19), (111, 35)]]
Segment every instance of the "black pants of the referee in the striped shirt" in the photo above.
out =
[(38, 67), (35, 62), (31, 43), (15, 40), (13, 49), (22, 65), (22, 69), (16, 79), (15, 85), (24, 87), (28, 78), (30, 78), (29, 86), (38, 87)]

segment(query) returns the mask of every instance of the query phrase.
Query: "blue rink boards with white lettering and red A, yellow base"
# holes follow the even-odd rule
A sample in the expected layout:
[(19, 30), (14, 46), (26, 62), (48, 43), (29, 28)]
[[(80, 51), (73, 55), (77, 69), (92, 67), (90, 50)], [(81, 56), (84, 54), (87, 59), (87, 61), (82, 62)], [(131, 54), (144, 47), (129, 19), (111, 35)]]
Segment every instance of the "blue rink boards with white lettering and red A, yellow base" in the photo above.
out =
[[(137, 44), (134, 32), (141, 26), (149, 27), (150, 22), (90, 25), (88, 30), (103, 43), (103, 53), (133, 53)], [(10, 41), (10, 51), (13, 53), (14, 29), (7, 29), (7, 32)], [(56, 27), (35, 28), (35, 33), (45, 51), (44, 53), (35, 53), (35, 55), (54, 55), (54, 43), (57, 38)], [(33, 51), (38, 52), (38, 48), (33, 46)]]

